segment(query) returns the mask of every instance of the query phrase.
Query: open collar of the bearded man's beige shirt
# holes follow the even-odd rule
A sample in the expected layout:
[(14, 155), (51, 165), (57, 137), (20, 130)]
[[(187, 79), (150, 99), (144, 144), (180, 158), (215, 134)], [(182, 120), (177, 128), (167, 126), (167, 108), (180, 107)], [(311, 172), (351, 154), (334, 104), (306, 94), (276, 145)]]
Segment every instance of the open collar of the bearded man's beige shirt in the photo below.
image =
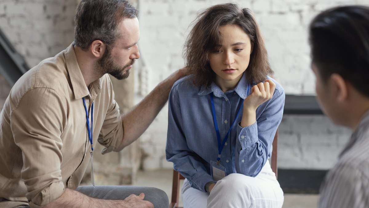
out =
[[(73, 93), (76, 100), (91, 96), (90, 91), (86, 86), (85, 79), (82, 76), (82, 72), (79, 68), (76, 53), (74, 51), (74, 42), (64, 52), (65, 62), (67, 71), (70, 77), (70, 82), (72, 83)], [(91, 84), (91, 89), (94, 89), (94, 94), (99, 94), (101, 91), (101, 81), (97, 79)], [(93, 95), (92, 95), (93, 96)], [(93, 96), (93, 97), (96, 97)], [(90, 97), (91, 98), (91, 97)]]

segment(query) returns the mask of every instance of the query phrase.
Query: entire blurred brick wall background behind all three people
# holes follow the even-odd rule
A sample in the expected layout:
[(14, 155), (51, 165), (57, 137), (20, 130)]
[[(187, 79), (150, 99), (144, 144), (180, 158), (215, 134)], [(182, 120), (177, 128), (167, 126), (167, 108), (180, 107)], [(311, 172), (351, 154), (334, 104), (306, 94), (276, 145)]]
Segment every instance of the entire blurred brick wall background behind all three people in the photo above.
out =
[[(55, 56), (73, 41), (79, 0), (0, 0), (0, 28), (30, 67)], [(182, 48), (191, 22), (201, 9), (235, 2), (255, 13), (268, 49), (274, 77), (286, 94), (314, 94), (307, 27), (328, 7), (366, 4), (368, 0), (132, 0), (139, 9), (141, 59), (132, 76), (113, 80), (122, 113), (156, 84), (183, 67)], [(1, 61), (1, 60), (0, 60)], [(11, 86), (0, 75), (0, 108)], [(98, 184), (129, 184), (139, 168), (172, 168), (165, 160), (167, 106), (142, 137), (119, 153), (96, 156)], [(350, 131), (324, 116), (284, 116), (279, 127), (279, 167), (332, 167)], [(97, 154), (96, 154), (97, 155)], [(89, 171), (87, 171), (89, 172)], [(88, 174), (86, 177), (89, 177)]]

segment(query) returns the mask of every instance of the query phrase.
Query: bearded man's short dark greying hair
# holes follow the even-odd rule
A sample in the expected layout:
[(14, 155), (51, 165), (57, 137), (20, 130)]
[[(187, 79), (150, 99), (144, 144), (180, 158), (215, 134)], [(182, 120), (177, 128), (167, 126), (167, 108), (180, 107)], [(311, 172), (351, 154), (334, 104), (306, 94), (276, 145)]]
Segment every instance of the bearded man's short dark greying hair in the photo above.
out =
[(120, 21), (137, 16), (127, 0), (82, 0), (75, 16), (75, 45), (86, 50), (94, 40), (101, 40), (112, 46), (119, 37)]

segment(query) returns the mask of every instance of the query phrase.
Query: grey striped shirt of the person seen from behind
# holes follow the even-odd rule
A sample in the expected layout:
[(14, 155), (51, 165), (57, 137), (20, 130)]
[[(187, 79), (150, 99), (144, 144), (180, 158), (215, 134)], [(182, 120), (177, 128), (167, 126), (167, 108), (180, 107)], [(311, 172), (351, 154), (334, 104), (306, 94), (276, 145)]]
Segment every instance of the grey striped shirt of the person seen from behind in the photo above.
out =
[(369, 111), (320, 189), (320, 208), (369, 207)]

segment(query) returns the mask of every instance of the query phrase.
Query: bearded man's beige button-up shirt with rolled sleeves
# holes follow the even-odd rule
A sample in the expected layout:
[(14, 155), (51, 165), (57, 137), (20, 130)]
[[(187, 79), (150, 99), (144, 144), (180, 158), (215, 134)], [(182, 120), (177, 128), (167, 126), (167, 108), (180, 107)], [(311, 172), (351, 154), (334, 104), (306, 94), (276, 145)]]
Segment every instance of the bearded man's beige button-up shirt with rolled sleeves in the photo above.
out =
[(78, 187), (91, 157), (83, 97), (94, 102), (93, 143), (121, 150), (111, 80), (87, 88), (73, 43), (15, 83), (0, 114), (0, 207), (42, 207)]

